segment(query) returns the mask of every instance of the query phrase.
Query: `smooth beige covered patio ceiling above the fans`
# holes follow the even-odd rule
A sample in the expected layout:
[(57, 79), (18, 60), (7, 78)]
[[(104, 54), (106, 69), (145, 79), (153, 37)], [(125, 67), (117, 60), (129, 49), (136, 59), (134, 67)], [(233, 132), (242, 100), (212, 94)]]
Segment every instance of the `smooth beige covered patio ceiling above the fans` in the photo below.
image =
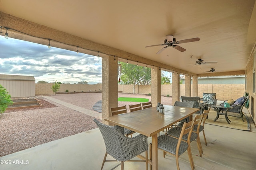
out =
[[(1, 0), (0, 11), (198, 76), (212, 76), (246, 69), (256, 41), (254, 3), (255, 0)], [(195, 37), (200, 41), (180, 44), (186, 49), (184, 52), (169, 47), (156, 54), (165, 46), (145, 48), (163, 44), (166, 35), (173, 35), (177, 41)], [(195, 65), (198, 59), (218, 63)], [(206, 73), (211, 68), (216, 72)]]

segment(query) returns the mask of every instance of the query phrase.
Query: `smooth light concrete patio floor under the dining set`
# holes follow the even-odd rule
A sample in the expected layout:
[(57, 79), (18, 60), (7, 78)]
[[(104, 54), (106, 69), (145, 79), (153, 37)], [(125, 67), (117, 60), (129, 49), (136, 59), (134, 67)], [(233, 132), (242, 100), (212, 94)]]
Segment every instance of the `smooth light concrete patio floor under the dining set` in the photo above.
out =
[[(195, 169), (256, 170), (256, 128), (251, 119), (250, 125), (251, 131), (248, 132), (206, 124), (207, 146), (200, 134), (204, 151), (202, 158), (198, 156), (196, 141), (191, 143)], [(148, 138), (148, 143), (150, 141)], [(0, 170), (99, 170), (105, 151), (102, 135), (96, 128), (2, 156)], [(181, 170), (191, 169), (187, 152), (180, 156), (179, 163)], [(119, 162), (106, 162), (103, 169), (119, 170), (118, 165)], [(125, 162), (124, 169), (142, 170), (146, 167), (144, 162)], [(158, 150), (158, 169), (176, 170), (174, 156), (163, 158)]]

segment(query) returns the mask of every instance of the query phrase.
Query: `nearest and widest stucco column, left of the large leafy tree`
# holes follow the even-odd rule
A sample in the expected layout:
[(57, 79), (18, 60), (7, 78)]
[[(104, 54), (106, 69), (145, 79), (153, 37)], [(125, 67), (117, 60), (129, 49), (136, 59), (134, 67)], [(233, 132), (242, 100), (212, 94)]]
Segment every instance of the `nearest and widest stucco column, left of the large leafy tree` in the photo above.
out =
[(102, 57), (102, 122), (104, 118), (109, 117), (109, 107), (118, 106), (118, 59), (116, 61), (112, 56)]

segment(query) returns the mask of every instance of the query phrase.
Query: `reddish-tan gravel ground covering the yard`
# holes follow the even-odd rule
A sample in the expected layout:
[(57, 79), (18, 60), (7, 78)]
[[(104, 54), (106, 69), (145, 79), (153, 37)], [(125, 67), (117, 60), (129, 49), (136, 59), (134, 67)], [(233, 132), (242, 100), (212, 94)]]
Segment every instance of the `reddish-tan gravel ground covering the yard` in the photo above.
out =
[[(85, 109), (92, 109), (96, 102), (102, 100), (101, 93), (57, 94), (51, 97)], [(151, 99), (151, 96), (143, 94), (119, 93), (118, 97)], [(7, 110), (0, 114), (0, 157), (97, 127), (91, 116), (42, 96), (36, 98), (44, 106)], [(171, 100), (162, 96), (162, 104), (171, 105)], [(118, 106), (129, 104), (136, 102), (118, 102)]]

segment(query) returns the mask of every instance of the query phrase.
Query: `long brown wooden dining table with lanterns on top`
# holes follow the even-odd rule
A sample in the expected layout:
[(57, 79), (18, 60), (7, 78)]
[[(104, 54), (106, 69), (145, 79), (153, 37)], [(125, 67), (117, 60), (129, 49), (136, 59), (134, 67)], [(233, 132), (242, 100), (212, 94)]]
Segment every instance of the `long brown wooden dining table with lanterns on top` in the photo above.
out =
[(153, 170), (158, 170), (158, 132), (163, 131), (186, 117), (192, 120), (193, 113), (196, 113), (198, 110), (197, 108), (164, 105), (164, 114), (159, 113), (156, 107), (150, 107), (131, 113), (107, 117), (104, 120), (142, 135), (152, 137), (152, 160), (149, 163), (152, 164)]

